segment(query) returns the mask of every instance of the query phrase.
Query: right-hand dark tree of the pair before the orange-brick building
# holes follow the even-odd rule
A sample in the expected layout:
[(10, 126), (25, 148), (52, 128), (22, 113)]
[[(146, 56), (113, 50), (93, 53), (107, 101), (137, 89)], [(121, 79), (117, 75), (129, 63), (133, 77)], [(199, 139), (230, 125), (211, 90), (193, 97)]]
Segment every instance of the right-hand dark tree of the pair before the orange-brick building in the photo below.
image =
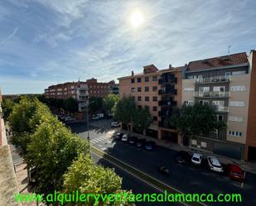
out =
[(146, 130), (152, 122), (148, 109), (137, 108), (133, 114), (133, 128), (138, 132)]

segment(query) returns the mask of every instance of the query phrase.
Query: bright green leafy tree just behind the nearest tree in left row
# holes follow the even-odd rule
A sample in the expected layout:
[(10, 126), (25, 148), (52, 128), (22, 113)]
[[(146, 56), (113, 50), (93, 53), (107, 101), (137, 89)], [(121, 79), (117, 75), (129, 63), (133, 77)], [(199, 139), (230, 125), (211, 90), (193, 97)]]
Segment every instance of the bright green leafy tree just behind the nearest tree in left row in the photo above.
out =
[(36, 171), (36, 192), (60, 191), (62, 175), (80, 154), (89, 154), (88, 141), (70, 132), (56, 117), (46, 117), (27, 146), (25, 160)]

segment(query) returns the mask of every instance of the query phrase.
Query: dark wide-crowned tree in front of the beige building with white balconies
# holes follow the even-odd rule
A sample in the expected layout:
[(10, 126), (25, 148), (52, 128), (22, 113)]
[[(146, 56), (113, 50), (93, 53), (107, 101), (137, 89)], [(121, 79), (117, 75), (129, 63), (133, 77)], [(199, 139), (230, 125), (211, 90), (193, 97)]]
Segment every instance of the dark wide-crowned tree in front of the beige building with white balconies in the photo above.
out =
[(185, 137), (208, 136), (215, 130), (225, 128), (225, 122), (218, 121), (215, 108), (199, 103), (193, 106), (183, 104), (181, 108), (174, 108), (170, 121)]

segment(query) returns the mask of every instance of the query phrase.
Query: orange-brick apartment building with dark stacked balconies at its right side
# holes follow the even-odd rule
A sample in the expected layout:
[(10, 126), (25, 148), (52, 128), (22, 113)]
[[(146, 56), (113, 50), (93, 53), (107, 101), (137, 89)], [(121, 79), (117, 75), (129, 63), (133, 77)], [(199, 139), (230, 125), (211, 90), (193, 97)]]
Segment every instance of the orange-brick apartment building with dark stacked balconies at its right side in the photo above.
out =
[[(174, 106), (181, 106), (182, 69), (157, 69), (155, 65), (143, 67), (140, 74), (119, 78), (119, 96), (132, 96), (138, 107), (147, 107), (152, 124), (145, 134), (158, 139), (181, 142), (176, 129), (167, 121)], [(133, 131), (133, 128), (128, 127)]]

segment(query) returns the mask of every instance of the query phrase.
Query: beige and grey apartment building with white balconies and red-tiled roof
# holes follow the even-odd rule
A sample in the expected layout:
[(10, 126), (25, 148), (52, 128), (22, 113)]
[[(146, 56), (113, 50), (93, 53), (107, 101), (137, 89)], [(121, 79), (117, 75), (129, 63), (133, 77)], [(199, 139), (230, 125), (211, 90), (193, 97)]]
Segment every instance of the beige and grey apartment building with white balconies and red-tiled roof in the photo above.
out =
[(227, 128), (209, 137), (193, 137), (189, 144), (215, 154), (244, 159), (249, 109), (250, 71), (247, 54), (191, 61), (182, 82), (182, 103), (216, 108)]

